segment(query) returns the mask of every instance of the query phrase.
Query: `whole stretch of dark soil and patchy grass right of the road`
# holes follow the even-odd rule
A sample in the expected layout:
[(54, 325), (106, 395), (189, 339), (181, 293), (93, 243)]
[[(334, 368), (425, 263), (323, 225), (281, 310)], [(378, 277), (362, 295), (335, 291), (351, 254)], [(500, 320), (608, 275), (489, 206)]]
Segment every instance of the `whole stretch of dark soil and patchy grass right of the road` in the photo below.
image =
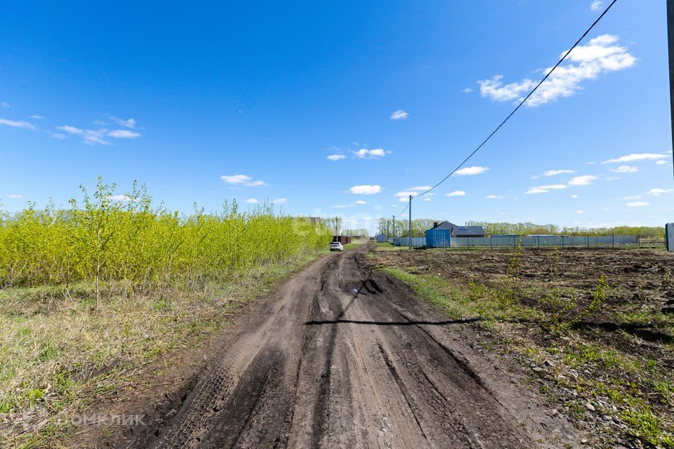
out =
[(590, 434), (588, 445), (674, 447), (674, 254), (408, 250), (374, 253), (371, 264), (439, 279), (447, 304), (454, 292), (468, 298), (474, 331), (487, 332), (492, 351), (518, 354), (532, 387)]

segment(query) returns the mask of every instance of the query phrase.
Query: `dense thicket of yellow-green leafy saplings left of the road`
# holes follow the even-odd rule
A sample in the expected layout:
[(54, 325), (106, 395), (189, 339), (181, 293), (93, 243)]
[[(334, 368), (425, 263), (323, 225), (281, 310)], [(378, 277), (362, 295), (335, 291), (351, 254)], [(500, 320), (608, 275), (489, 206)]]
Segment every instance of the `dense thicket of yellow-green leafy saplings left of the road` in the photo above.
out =
[(269, 205), (190, 216), (152, 208), (144, 187), (114, 195), (98, 185), (69, 209), (34, 204), (0, 214), (0, 288), (125, 281), (130, 288), (203, 285), (234, 272), (324, 248), (331, 232), (305, 218), (275, 215)]

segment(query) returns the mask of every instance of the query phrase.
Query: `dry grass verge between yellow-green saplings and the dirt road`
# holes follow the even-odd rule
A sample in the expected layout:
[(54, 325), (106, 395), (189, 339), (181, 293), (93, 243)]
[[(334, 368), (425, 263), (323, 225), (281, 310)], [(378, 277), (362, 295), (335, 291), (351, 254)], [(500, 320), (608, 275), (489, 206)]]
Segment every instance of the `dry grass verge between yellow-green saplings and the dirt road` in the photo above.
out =
[(243, 304), (318, 257), (269, 264), (199, 291), (95, 288), (0, 291), (0, 447), (59, 447), (86, 406), (171, 351), (196, 347)]

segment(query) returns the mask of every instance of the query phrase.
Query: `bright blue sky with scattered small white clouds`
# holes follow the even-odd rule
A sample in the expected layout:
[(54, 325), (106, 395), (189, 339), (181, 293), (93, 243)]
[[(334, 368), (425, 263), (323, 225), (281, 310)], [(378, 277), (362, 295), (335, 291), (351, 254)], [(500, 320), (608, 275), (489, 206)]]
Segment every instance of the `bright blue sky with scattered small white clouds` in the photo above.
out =
[[(219, 3), (4, 6), (2, 207), (67, 205), (101, 175), (186, 213), (235, 197), (374, 229), (608, 1)], [(619, 0), (581, 45), (414, 217), (674, 219), (665, 2)]]

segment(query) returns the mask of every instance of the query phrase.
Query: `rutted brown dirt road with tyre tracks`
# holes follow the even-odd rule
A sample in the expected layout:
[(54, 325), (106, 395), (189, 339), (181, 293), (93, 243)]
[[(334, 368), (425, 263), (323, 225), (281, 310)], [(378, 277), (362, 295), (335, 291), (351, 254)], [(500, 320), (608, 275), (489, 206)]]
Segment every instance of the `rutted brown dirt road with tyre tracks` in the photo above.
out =
[(370, 272), (361, 251), (318, 260), (248, 319), (173, 410), (118, 447), (578, 445), (469, 326)]

